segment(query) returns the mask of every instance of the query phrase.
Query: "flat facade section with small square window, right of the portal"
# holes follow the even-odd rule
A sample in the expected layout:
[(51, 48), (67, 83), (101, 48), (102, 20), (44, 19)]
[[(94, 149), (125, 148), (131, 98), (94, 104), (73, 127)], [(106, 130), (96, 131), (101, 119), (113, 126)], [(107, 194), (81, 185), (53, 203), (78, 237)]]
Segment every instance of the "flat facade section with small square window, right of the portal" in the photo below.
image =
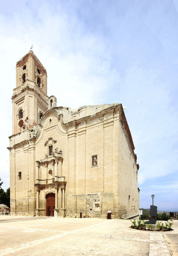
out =
[[(119, 116), (113, 119), (111, 112), (106, 116), (95, 117), (86, 125), (85, 122), (78, 125), (76, 135), (77, 197), (73, 194), (70, 198), (70, 204), (72, 198), (73, 202), (77, 201), (76, 214), (79, 214), (80, 210), (85, 214), (90, 205), (90, 211), (87, 210), (86, 216), (106, 217), (108, 210), (112, 211), (113, 216), (118, 216), (118, 122)], [(93, 155), (97, 156), (97, 166), (92, 166)], [(96, 196), (99, 198), (99, 209), (95, 209), (95, 203), (97, 204), (98, 201), (94, 203), (95, 196), (93, 195), (99, 196)], [(69, 202), (69, 197), (70, 195), (67, 196), (67, 202)], [(91, 205), (93, 205), (92, 210)], [(96, 214), (93, 213), (94, 209)], [(67, 214), (72, 214), (72, 211), (69, 213), (67, 209)]]

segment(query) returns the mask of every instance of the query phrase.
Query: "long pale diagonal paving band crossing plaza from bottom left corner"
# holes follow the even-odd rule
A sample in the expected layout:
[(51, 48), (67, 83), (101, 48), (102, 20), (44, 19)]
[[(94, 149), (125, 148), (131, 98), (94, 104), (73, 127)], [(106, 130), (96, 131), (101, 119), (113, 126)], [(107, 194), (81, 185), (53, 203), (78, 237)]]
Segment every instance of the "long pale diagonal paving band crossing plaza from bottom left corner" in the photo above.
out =
[[(114, 221), (114, 220), (108, 220), (106, 222), (111, 222), (111, 221)], [(73, 230), (73, 231), (68, 231), (68, 232), (64, 231), (62, 234), (57, 234), (57, 235), (45, 237), (45, 238), (42, 238), (42, 239), (39, 239), (39, 240), (28, 242), (26, 244), (16, 245), (16, 246), (4, 249), (4, 250), (0, 250), (0, 256), (10, 254), (10, 253), (22, 250), (22, 249), (26, 249), (28, 247), (35, 246), (35, 245), (38, 245), (38, 244), (42, 244), (44, 242), (48, 242), (48, 241), (51, 241), (51, 240), (54, 240), (54, 239), (58, 239), (58, 238), (63, 237), (63, 236), (67, 236), (67, 235), (70, 235), (70, 234), (76, 234), (79, 231), (82, 231), (82, 230), (85, 230), (85, 229), (90, 229), (90, 227), (99, 226), (101, 224), (103, 224), (103, 222), (100, 222), (100, 223), (97, 223), (97, 224), (94, 224), (94, 225), (89, 225), (89, 226), (83, 227), (81, 229), (76, 229), (76, 230)]]

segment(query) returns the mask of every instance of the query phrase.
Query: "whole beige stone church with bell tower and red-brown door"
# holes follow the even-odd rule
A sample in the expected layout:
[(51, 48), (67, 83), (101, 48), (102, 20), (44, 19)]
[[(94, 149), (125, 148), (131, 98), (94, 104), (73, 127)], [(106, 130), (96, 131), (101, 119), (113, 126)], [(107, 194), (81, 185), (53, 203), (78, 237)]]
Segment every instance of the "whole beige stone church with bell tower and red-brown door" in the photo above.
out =
[(58, 107), (30, 50), (16, 63), (10, 136), (11, 212), (137, 218), (137, 156), (122, 104)]

